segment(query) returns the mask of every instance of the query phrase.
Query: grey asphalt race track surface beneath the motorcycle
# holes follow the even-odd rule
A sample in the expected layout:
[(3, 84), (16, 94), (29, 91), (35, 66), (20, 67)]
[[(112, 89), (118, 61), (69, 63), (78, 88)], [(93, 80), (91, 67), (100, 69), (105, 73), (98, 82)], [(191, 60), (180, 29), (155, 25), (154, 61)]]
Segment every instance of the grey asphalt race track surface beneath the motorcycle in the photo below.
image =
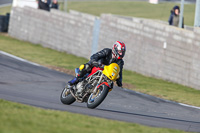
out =
[(71, 75), (0, 51), (0, 99), (153, 127), (200, 132), (200, 109), (118, 87), (96, 109), (88, 109), (86, 103), (64, 105), (60, 102), (60, 93), (71, 78)]

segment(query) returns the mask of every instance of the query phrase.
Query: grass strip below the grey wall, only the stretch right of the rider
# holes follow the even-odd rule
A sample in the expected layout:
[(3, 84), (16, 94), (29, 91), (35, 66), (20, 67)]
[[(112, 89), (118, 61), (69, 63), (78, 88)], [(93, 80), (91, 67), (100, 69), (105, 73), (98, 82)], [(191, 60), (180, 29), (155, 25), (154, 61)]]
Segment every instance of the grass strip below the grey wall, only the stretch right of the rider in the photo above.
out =
[(200, 107), (200, 101), (198, 100), (200, 90), (161, 79), (145, 77), (131, 71), (124, 71), (123, 81), (132, 84), (134, 87), (131, 89), (135, 91)]

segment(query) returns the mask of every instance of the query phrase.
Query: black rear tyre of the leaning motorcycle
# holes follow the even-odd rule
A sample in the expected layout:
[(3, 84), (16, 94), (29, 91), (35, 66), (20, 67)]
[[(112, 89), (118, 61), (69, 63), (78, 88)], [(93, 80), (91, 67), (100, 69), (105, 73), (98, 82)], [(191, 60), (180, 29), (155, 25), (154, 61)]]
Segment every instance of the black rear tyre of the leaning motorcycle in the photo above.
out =
[(73, 102), (76, 101), (76, 99), (72, 96), (72, 94), (70, 92), (67, 91), (68, 89), (67, 88), (64, 88), (61, 95), (60, 95), (60, 101), (63, 103), (63, 104), (67, 104), (67, 105), (70, 105), (72, 104)]

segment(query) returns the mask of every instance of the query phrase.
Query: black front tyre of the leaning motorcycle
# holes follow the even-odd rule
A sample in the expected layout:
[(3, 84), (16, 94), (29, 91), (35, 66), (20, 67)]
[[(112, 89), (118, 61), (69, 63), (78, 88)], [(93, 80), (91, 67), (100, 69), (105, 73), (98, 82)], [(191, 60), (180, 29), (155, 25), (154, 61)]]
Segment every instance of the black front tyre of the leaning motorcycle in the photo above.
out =
[(87, 101), (87, 107), (94, 109), (97, 106), (99, 106), (108, 95), (108, 92), (109, 92), (108, 86), (106, 85), (100, 86), (96, 94), (92, 93), (89, 96)]

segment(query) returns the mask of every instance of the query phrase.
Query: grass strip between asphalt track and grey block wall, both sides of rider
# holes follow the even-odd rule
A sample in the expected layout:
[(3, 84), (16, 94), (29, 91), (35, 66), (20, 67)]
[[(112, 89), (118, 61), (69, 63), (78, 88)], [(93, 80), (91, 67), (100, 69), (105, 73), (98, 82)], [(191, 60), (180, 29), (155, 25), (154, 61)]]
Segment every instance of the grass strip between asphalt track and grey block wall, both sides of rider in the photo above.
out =
[[(0, 34), (0, 50), (45, 66), (56, 66), (73, 70), (88, 60), (63, 52), (58, 52), (40, 45), (19, 41)], [(124, 87), (194, 106), (200, 106), (200, 90), (167, 82), (161, 79), (146, 77), (141, 74), (124, 70)]]

